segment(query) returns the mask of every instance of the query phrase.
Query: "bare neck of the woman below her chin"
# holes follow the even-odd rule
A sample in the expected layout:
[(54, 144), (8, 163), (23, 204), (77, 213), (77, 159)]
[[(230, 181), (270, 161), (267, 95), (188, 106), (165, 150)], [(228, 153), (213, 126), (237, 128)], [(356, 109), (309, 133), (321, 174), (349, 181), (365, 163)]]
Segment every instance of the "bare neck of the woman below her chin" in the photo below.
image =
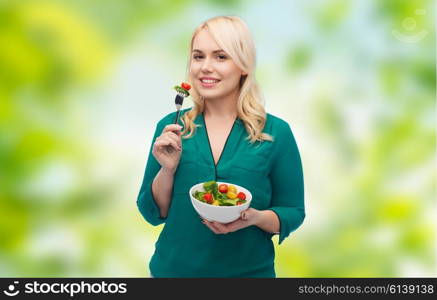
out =
[(222, 98), (206, 98), (203, 115), (212, 119), (230, 119), (237, 117), (237, 101), (239, 91)]

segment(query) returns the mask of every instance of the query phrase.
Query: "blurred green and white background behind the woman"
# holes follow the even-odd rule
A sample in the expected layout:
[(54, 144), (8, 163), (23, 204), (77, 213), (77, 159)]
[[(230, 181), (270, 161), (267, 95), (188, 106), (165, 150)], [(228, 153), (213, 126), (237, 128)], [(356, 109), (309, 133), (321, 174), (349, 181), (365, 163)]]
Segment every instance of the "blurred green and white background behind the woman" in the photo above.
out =
[(0, 276), (149, 276), (151, 137), (216, 15), (248, 23), (302, 155), (307, 217), (274, 238), (278, 277), (436, 276), (434, 5), (0, 1)]

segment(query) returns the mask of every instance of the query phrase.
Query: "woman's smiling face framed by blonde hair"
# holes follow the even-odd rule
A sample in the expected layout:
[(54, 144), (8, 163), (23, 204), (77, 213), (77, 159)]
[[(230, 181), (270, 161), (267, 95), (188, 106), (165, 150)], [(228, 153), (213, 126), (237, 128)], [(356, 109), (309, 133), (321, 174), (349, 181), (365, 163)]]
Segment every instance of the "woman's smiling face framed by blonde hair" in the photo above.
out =
[(193, 41), (190, 75), (193, 86), (205, 99), (238, 95), (240, 78), (246, 75), (222, 50), (209, 32), (200, 30)]

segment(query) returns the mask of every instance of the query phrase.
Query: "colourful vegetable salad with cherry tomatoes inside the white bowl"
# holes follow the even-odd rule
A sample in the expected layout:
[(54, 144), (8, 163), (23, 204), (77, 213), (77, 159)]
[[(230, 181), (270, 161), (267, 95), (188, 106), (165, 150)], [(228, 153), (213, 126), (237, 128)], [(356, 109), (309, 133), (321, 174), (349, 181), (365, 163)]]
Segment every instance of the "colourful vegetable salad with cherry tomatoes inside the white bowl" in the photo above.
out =
[(193, 197), (215, 206), (235, 206), (246, 202), (246, 194), (238, 192), (232, 184), (220, 184), (208, 181), (203, 184), (204, 192), (195, 191)]

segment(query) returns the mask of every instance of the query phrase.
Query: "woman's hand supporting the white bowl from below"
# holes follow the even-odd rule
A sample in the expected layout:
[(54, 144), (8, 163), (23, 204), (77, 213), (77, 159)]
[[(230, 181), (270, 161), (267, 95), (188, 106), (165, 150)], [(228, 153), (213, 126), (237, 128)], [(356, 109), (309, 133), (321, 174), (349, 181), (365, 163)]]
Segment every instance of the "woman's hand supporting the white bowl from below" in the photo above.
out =
[(233, 222), (223, 224), (215, 221), (210, 222), (208, 220), (202, 219), (202, 223), (208, 226), (208, 228), (211, 229), (216, 234), (226, 234), (229, 232), (234, 232), (242, 228), (258, 224), (258, 220), (260, 216), (261, 216), (261, 211), (250, 207), (242, 211), (240, 218)]

